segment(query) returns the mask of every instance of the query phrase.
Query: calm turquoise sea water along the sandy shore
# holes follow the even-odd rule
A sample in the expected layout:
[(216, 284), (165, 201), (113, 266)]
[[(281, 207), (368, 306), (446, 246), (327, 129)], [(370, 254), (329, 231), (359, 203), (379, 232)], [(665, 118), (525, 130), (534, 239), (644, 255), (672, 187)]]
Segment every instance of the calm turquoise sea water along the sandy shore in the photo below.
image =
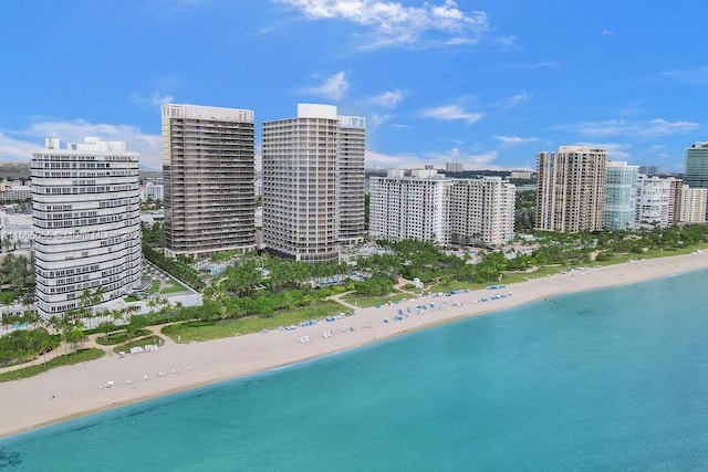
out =
[(707, 285), (553, 297), (60, 423), (0, 440), (0, 469), (705, 470)]

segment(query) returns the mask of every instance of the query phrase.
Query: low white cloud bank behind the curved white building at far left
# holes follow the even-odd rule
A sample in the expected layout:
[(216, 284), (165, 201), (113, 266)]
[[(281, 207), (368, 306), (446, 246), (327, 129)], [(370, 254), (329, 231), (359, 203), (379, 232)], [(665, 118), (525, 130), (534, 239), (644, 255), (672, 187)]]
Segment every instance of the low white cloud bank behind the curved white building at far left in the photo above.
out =
[(56, 137), (62, 147), (83, 143), (84, 137), (122, 140), (131, 151), (139, 153), (140, 167), (159, 170), (163, 167), (162, 138), (131, 125), (92, 124), (83, 119), (38, 122), (28, 129), (0, 132), (0, 159), (29, 161), (32, 153), (44, 147), (44, 138)]

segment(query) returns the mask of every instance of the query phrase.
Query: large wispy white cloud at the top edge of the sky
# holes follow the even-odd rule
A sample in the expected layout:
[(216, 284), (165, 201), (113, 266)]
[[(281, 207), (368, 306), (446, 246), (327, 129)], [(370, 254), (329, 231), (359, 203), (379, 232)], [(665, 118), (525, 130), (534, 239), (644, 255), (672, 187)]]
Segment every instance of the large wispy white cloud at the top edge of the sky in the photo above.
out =
[(454, 0), (406, 7), (384, 0), (275, 0), (312, 20), (342, 20), (367, 34), (365, 49), (476, 44), (491, 30), (483, 11), (461, 11)]

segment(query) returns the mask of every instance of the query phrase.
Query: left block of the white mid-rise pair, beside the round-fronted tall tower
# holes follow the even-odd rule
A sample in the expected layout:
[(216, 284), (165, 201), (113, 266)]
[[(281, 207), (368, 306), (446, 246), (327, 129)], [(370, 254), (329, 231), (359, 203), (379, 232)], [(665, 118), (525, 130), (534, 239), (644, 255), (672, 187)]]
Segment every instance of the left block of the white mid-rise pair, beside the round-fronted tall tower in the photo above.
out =
[(371, 177), (368, 234), (392, 241), (449, 244), (450, 182), (428, 169), (396, 169), (386, 177)]

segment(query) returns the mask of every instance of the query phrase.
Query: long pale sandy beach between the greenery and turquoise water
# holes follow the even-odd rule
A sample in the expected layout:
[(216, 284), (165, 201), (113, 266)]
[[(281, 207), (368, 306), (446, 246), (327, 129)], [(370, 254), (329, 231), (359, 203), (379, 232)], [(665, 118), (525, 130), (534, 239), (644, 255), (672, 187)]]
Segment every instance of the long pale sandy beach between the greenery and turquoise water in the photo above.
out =
[[(708, 268), (708, 252), (574, 270), (498, 290), (412, 298), (379, 308), (360, 308), (354, 316), (335, 322), (320, 321), (294, 331), (271, 331), (208, 343), (175, 344), (167, 340), (157, 352), (123, 357), (110, 355), (33, 378), (0, 384), (0, 437), (552, 295), (635, 283), (704, 268)], [(488, 301), (479, 302), (481, 298)], [(434, 307), (430, 307), (430, 302)], [(417, 314), (415, 307), (421, 303), (427, 310)], [(398, 310), (407, 315), (405, 319), (394, 319)]]

